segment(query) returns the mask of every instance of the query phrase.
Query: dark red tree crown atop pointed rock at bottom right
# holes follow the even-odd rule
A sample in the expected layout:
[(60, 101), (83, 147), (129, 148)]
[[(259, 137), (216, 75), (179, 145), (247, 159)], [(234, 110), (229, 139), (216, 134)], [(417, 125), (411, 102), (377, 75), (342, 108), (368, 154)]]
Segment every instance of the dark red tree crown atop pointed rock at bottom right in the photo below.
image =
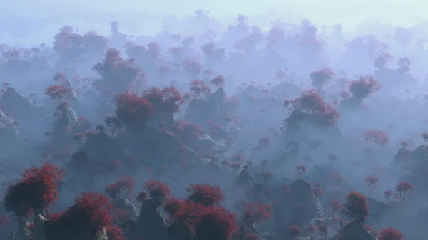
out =
[(345, 196), (345, 201), (343, 214), (354, 219), (359, 224), (364, 224), (364, 219), (370, 215), (365, 195), (351, 191)]

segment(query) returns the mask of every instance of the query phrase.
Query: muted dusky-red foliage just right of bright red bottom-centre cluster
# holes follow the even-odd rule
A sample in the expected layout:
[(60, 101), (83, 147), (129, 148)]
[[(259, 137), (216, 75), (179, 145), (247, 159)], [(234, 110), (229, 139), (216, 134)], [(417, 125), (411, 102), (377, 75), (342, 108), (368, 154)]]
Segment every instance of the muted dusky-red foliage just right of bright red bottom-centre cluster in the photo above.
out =
[(246, 224), (260, 223), (269, 220), (270, 214), (272, 214), (272, 207), (269, 204), (245, 203), (243, 221)]

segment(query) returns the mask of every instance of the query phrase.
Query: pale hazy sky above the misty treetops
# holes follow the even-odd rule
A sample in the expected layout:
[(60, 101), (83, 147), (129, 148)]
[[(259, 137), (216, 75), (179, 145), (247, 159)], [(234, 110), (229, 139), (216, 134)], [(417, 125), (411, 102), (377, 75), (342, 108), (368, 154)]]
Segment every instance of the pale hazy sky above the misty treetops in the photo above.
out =
[[(97, 30), (105, 34), (108, 33), (108, 22), (113, 20), (120, 21), (125, 32), (126, 26), (132, 32), (133, 29), (138, 28), (143, 31), (153, 31), (153, 29), (157, 31), (160, 29), (162, 17), (153, 17), (152, 20), (147, 15), (188, 16), (196, 9), (209, 10), (210, 16), (224, 19), (228, 23), (234, 21), (238, 14), (247, 15), (250, 24), (262, 24), (260, 20), (265, 21), (263, 24), (268, 24), (275, 19), (291, 21), (290, 19), (306, 17), (317, 25), (332, 26), (342, 23), (345, 33), (354, 30), (361, 22), (381, 21), (384, 24), (408, 27), (428, 19), (426, 15), (428, 1), (422, 0), (0, 0), (0, 6), (0, 22), (8, 23), (7, 26), (0, 24), (0, 31), (22, 28), (28, 25), (29, 19), (33, 19), (30, 20), (29, 31), (34, 28), (33, 26), (49, 28), (44, 33), (31, 33), (34, 38), (46, 36), (46, 34), (53, 36), (59, 25), (66, 24), (80, 28), (82, 31)], [(88, 14), (92, 13), (100, 15), (92, 16), (89, 20), (91, 22), (88, 23)], [(140, 15), (136, 13), (144, 14), (146, 17), (139, 17)], [(16, 16), (29, 19), (16, 20)], [(266, 16), (269, 19), (266, 19)], [(365, 26), (371, 25), (365, 24)], [(138, 34), (138, 32), (133, 33)], [(21, 42), (21, 39), (10, 38), (8, 33), (4, 33), (0, 38), (2, 41), (9, 39), (8, 42)]]

